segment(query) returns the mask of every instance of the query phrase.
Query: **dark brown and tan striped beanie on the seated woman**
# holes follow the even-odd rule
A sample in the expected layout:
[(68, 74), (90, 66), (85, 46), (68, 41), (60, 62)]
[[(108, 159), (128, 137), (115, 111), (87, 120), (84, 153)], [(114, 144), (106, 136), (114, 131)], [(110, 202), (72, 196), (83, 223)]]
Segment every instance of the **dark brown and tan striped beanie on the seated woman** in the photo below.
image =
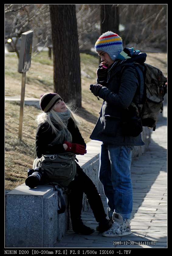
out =
[(48, 112), (56, 102), (62, 99), (57, 93), (45, 93), (40, 96), (40, 107), (44, 112)]

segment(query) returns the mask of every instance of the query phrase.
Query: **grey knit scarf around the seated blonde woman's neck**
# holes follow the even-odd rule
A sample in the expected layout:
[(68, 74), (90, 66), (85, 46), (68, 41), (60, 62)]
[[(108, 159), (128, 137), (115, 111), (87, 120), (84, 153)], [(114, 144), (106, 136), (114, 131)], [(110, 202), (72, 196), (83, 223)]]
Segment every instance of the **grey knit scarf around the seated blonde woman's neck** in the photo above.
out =
[[(64, 124), (68, 124), (68, 120), (71, 117), (71, 112), (67, 109), (66, 112), (58, 112), (58, 116), (62, 119)], [(72, 135), (67, 128), (63, 128), (50, 114), (50, 118), (53, 124), (58, 125), (59, 132), (56, 135), (56, 138), (50, 143), (51, 145), (61, 144), (64, 141), (72, 142)]]

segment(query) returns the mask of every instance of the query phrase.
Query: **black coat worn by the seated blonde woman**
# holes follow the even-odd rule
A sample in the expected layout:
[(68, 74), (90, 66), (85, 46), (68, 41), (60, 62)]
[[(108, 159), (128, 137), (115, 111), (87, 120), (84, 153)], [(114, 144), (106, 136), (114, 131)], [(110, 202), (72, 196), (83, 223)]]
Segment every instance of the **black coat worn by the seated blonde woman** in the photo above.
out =
[[(54, 124), (58, 129), (58, 126)], [(74, 121), (69, 118), (67, 128), (72, 135), (72, 143), (77, 143), (85, 146), (84, 139), (78, 128), (75, 128)], [(38, 126), (36, 131), (36, 155), (38, 158), (42, 157), (43, 154), (55, 154), (65, 152), (63, 144), (51, 145), (51, 142), (55, 139), (56, 134), (52, 133), (51, 126), (47, 122)]]

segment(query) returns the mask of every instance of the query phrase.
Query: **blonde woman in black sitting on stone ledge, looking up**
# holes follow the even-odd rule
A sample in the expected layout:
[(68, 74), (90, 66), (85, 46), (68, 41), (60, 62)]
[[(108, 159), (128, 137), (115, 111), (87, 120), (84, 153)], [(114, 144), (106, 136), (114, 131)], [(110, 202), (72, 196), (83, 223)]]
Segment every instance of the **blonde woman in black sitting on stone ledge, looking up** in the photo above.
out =
[[(57, 93), (41, 95), (40, 107), (43, 113), (37, 117), (38, 128), (36, 132), (36, 155), (72, 152), (84, 155), (87, 151), (84, 139), (79, 132), (74, 114), (67, 107)], [(72, 229), (75, 233), (89, 235), (95, 230), (85, 226), (81, 219), (83, 193), (87, 196), (88, 203), (95, 219), (99, 222), (98, 231), (103, 233), (112, 223), (106, 219), (105, 210), (96, 186), (77, 164), (74, 180), (68, 185), (70, 190), (70, 214)]]

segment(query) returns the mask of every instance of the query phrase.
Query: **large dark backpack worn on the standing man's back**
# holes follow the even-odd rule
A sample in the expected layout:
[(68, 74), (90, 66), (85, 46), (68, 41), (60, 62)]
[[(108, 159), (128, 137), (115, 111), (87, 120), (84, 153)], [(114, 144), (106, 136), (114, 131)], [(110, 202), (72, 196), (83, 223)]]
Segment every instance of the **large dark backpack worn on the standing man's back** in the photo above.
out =
[(158, 115), (163, 111), (163, 97), (167, 90), (165, 86), (165, 82), (167, 81), (167, 79), (164, 77), (162, 71), (158, 68), (146, 63), (143, 63), (141, 65), (144, 66), (144, 72), (142, 72), (139, 68), (139, 63), (134, 63), (134, 65), (124, 64), (121, 75), (126, 67), (134, 68), (137, 72), (139, 93), (141, 89), (140, 77), (141, 75), (143, 76), (144, 88), (142, 90), (142, 100), (139, 99), (139, 102), (136, 103), (136, 101), (133, 99), (132, 104), (135, 104), (136, 112), (138, 112), (138, 117), (141, 118), (142, 126), (153, 128), (153, 131), (155, 131), (158, 121)]

